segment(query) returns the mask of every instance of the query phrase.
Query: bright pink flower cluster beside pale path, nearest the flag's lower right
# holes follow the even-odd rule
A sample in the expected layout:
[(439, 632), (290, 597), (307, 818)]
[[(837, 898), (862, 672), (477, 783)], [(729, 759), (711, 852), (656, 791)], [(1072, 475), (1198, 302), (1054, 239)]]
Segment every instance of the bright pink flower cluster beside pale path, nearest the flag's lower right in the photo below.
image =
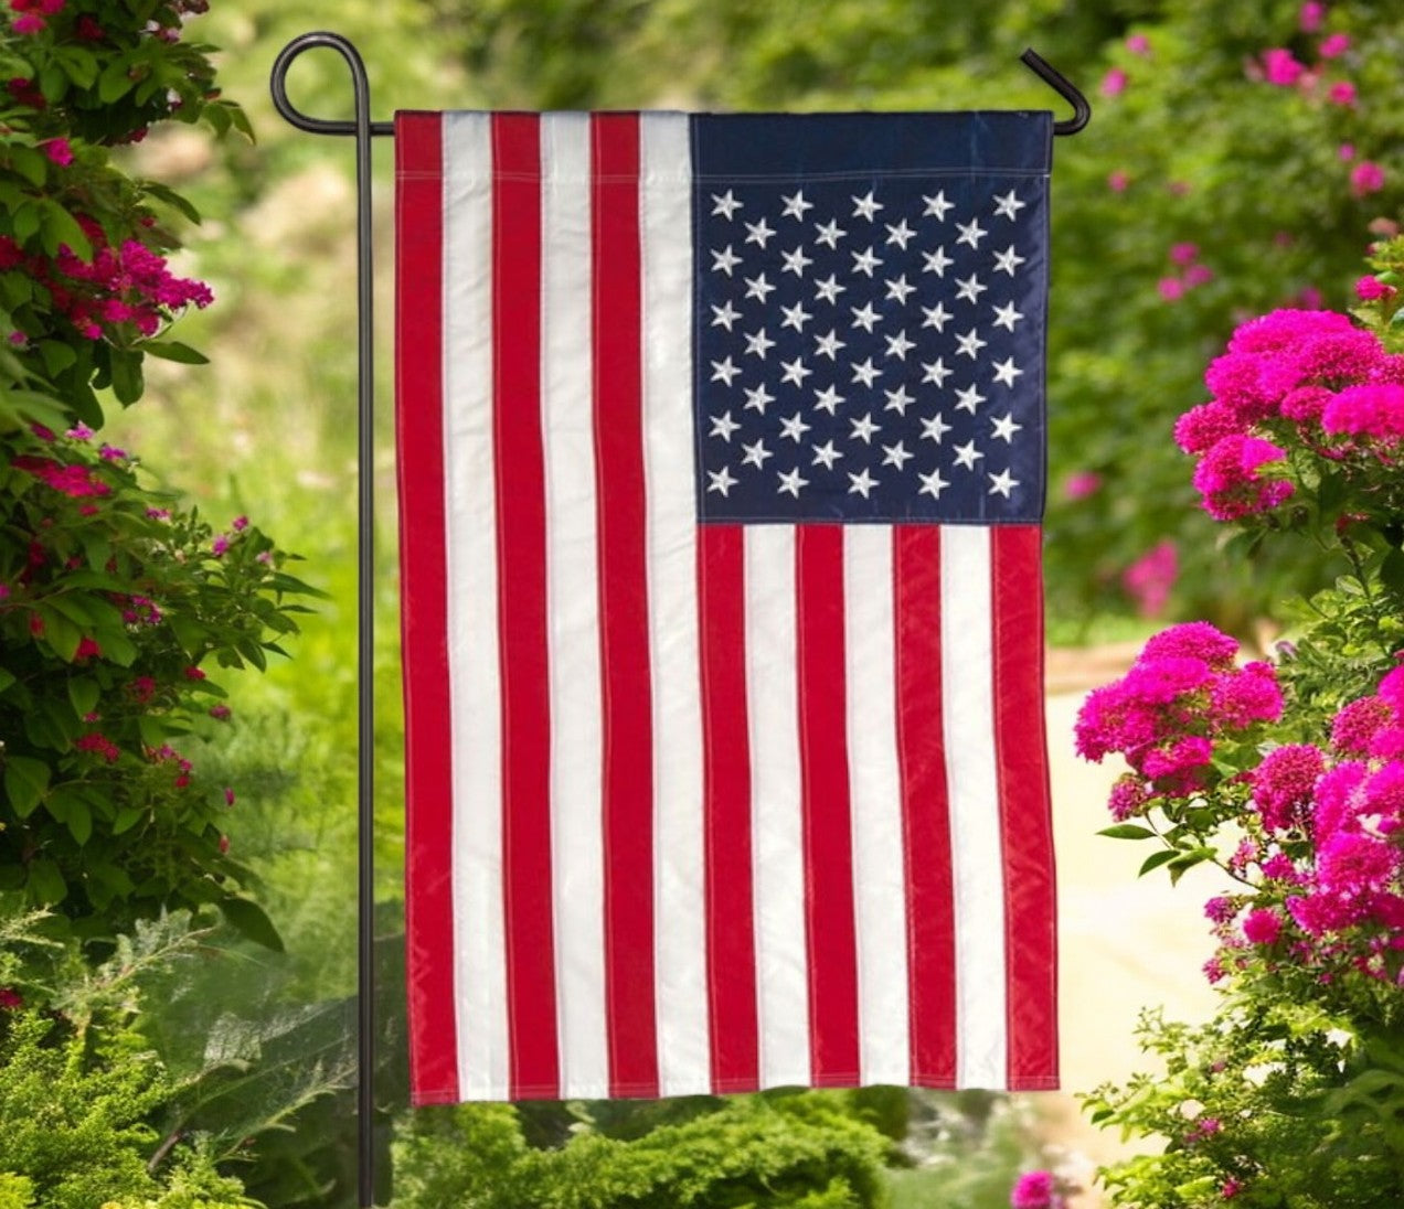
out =
[(1268, 663), (1234, 663), (1238, 644), (1207, 621), (1154, 635), (1132, 669), (1094, 689), (1077, 715), (1077, 752), (1101, 762), (1113, 752), (1132, 771), (1112, 788), (1116, 819), (1140, 813), (1157, 797), (1203, 788), (1214, 741), (1282, 714), (1282, 690)]

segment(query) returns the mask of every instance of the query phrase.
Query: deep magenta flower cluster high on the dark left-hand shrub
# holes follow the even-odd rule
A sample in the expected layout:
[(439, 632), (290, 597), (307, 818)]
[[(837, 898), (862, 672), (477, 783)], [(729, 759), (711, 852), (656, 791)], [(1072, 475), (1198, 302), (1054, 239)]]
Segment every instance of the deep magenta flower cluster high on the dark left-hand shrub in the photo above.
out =
[(93, 258), (81, 259), (67, 244), (51, 261), (25, 252), (10, 236), (0, 236), (0, 272), (21, 269), (44, 286), (53, 307), (88, 339), (102, 337), (102, 324), (129, 323), (154, 335), (171, 311), (206, 307), (215, 296), (201, 281), (178, 278), (164, 257), (136, 240), (112, 248), (102, 229), (86, 216), (79, 226), (93, 244)]

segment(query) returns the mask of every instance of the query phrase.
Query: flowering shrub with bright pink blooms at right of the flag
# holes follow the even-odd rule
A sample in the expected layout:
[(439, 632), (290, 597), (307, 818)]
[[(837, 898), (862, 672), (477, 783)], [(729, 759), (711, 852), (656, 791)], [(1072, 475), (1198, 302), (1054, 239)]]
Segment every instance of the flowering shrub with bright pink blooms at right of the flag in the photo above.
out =
[(1095, 1121), (1170, 1139), (1102, 1173), (1116, 1205), (1404, 1201), (1404, 244), (1358, 290), (1367, 325), (1289, 309), (1243, 324), (1181, 417), (1203, 508), (1240, 540), (1310, 537), (1349, 568), (1276, 663), (1203, 621), (1092, 691), (1077, 749), (1127, 770), (1104, 835), (1141, 872), (1217, 864), (1206, 1027), (1148, 1014), (1168, 1077), (1104, 1087)]

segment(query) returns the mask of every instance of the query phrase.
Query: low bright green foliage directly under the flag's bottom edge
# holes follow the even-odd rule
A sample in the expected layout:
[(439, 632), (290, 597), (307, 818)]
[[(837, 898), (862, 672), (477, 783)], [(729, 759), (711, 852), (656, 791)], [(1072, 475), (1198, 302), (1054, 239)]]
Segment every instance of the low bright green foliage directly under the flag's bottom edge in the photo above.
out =
[(421, 1111), (396, 1143), (396, 1205), (541, 1209), (879, 1209), (887, 1143), (834, 1100), (731, 1100), (621, 1140), (583, 1129), (529, 1147), (512, 1109)]

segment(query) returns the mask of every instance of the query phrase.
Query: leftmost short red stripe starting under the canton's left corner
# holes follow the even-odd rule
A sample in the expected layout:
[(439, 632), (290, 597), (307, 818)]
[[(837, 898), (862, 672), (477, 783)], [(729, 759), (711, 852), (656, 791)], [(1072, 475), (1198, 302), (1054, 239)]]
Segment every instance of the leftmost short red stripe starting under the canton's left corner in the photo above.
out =
[(701, 527), (698, 613), (712, 1090), (755, 1091), (760, 1087), (760, 1049), (751, 886), (751, 736), (746, 700), (746, 536), (739, 525)]

